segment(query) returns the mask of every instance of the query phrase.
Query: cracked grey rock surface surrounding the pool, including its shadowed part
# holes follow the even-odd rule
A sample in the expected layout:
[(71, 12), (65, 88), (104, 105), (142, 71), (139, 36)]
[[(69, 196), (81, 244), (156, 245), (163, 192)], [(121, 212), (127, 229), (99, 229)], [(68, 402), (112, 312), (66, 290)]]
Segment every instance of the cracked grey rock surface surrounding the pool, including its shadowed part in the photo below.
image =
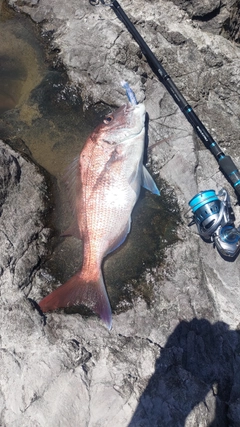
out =
[[(113, 11), (75, 0), (9, 4), (41, 23), (44, 33), (53, 32), (52, 47), (60, 49), (86, 108), (125, 102), (123, 78), (144, 100), (152, 167), (174, 188), (182, 224), (164, 267), (145, 273), (154, 295), (150, 306), (136, 300), (114, 316), (111, 332), (97, 318), (62, 312), (48, 314), (45, 324), (27, 297), (38, 301), (48, 286), (40, 268), (49, 238), (46, 182), (35, 165), (1, 143), (0, 424), (239, 426), (240, 260), (221, 258), (188, 228), (185, 216), (200, 190), (225, 186), (234, 201), (230, 185)], [(121, 4), (240, 165), (240, 52), (231, 41), (238, 41), (231, 30), (238, 2)], [(204, 16), (207, 21), (199, 19)]]

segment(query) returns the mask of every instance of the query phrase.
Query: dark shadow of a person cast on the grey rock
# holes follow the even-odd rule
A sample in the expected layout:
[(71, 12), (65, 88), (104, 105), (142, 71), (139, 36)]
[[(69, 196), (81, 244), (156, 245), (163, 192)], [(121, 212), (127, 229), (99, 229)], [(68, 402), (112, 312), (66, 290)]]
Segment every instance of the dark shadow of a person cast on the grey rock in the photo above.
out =
[(240, 331), (181, 322), (156, 361), (129, 427), (240, 426)]

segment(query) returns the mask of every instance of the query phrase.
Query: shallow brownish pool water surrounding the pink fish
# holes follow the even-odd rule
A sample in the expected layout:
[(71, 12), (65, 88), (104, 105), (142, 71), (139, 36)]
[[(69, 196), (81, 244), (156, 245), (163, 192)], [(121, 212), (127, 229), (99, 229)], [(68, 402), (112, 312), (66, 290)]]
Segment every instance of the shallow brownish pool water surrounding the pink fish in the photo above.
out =
[[(19, 149), (23, 140), (34, 160), (56, 179), (54, 250), (45, 268), (64, 282), (81, 266), (81, 242), (60, 237), (71, 222), (62, 177), (109, 108), (99, 105), (97, 110), (83, 112), (79, 94), (49, 54), (39, 29), (26, 17), (2, 9), (0, 33), (4, 35), (0, 46), (0, 138), (15, 141)], [(126, 309), (139, 295), (151, 304), (152, 289), (142, 274), (164, 262), (164, 248), (176, 241), (178, 207), (166, 185), (158, 185), (160, 197), (142, 191), (127, 241), (104, 262), (114, 310)]]

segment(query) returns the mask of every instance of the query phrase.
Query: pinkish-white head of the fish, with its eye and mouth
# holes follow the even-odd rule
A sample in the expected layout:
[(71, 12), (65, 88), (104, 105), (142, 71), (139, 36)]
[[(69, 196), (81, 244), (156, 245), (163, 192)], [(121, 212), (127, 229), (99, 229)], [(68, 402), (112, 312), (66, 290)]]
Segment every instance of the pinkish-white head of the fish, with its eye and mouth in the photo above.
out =
[(119, 145), (145, 131), (144, 104), (124, 104), (108, 114), (95, 129), (91, 138), (99, 143)]

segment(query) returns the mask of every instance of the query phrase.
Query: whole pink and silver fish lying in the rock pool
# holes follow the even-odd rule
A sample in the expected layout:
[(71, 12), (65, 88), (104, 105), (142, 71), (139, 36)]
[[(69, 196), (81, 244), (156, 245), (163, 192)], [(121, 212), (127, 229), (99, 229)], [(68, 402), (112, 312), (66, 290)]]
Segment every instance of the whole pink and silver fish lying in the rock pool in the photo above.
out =
[(160, 194), (143, 165), (145, 114), (143, 103), (127, 103), (105, 116), (75, 160), (69, 178), (75, 220), (64, 235), (82, 239), (82, 267), (39, 302), (42, 312), (85, 305), (111, 329), (103, 259), (129, 234), (141, 186)]

